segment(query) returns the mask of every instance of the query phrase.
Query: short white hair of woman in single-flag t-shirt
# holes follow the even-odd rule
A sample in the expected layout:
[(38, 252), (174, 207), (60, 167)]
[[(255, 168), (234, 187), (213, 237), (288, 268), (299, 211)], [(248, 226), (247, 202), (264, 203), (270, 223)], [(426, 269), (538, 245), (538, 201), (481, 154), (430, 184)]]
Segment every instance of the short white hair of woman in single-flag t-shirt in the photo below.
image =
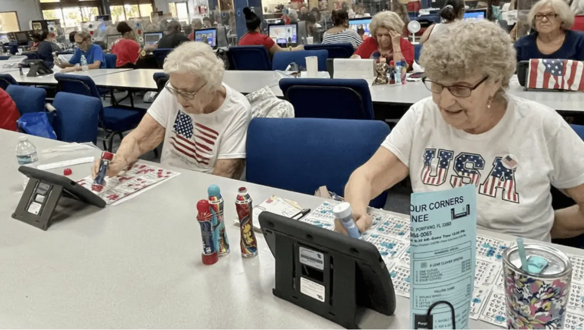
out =
[(176, 47), (164, 61), (165, 73), (192, 73), (206, 81), (207, 85), (219, 89), (223, 82), (225, 66), (206, 43), (192, 41)]

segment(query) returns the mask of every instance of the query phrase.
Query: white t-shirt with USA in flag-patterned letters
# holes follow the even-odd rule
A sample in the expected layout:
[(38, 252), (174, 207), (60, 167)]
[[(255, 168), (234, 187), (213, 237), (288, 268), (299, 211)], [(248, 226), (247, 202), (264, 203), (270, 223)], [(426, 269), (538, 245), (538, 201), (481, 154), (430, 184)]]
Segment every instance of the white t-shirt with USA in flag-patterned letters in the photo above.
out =
[(584, 142), (551, 108), (507, 100), (498, 124), (475, 135), (447, 124), (431, 97), (420, 100), (382, 146), (409, 167), (414, 192), (472, 182), (479, 228), (550, 241), (550, 185), (584, 183)]

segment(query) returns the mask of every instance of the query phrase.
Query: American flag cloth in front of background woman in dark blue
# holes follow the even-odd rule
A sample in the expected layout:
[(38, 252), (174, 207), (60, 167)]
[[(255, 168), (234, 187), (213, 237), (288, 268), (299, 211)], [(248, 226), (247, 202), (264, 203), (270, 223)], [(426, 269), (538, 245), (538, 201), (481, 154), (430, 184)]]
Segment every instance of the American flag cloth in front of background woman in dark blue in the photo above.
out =
[(584, 62), (571, 59), (538, 59), (529, 62), (527, 88), (584, 92)]

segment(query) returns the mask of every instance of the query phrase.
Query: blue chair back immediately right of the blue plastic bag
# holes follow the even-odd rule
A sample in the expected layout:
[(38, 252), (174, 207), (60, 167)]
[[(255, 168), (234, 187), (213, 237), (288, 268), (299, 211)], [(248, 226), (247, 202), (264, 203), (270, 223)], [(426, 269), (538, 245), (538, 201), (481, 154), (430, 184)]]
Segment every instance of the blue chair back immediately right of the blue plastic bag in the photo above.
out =
[(99, 113), (103, 107), (99, 99), (60, 92), (53, 106), (57, 109), (53, 128), (59, 141), (97, 143)]

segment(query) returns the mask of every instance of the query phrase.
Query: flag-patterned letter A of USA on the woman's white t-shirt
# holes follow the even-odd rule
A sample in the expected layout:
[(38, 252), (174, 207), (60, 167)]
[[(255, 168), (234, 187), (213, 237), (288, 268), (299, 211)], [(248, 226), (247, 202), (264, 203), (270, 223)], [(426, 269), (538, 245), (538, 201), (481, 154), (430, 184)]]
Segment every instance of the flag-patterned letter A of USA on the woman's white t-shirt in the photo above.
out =
[(519, 194), (516, 192), (515, 185), (515, 168), (510, 169), (503, 166), (502, 157), (495, 158), (491, 173), (479, 186), (478, 193), (496, 197), (498, 189), (503, 191), (503, 200), (519, 203)]

